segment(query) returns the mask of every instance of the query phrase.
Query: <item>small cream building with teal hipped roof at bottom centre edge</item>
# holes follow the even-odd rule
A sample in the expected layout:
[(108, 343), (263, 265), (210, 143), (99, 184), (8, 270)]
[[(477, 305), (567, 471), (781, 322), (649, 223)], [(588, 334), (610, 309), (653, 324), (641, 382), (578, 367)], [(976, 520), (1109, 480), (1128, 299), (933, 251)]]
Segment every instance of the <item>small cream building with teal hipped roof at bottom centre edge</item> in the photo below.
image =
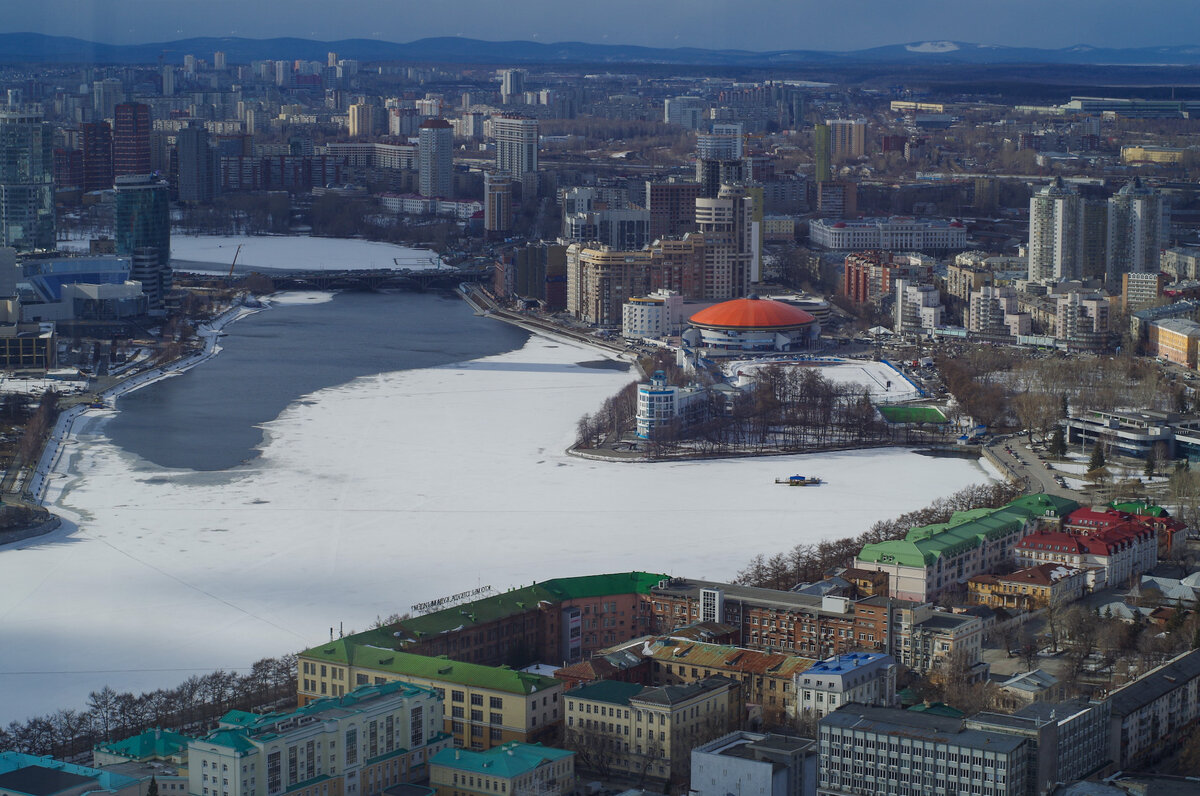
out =
[(438, 796), (565, 796), (575, 790), (575, 753), (540, 743), (505, 743), (487, 752), (443, 749), (430, 760)]

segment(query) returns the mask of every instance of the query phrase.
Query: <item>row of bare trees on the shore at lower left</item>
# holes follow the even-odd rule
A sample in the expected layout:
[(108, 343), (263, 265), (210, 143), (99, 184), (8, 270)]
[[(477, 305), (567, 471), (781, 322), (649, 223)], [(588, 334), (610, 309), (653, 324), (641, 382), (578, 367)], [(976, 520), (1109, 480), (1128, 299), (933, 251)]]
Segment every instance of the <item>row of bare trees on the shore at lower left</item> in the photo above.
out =
[(247, 672), (217, 670), (175, 688), (133, 694), (108, 686), (92, 692), (86, 710), (60, 710), (0, 728), (0, 752), (53, 755), (60, 760), (94, 744), (151, 728), (198, 734), (232, 710), (269, 711), (295, 698), (296, 657), (263, 658)]

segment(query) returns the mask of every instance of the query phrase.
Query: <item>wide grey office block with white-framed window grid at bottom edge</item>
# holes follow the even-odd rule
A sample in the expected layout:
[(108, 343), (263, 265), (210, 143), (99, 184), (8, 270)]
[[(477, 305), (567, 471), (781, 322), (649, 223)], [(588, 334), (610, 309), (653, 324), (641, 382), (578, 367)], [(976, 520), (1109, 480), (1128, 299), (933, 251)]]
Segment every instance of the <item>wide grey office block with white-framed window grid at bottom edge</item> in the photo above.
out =
[(817, 723), (820, 796), (980, 794), (1026, 796), (1033, 744), (965, 729), (962, 719), (847, 705)]

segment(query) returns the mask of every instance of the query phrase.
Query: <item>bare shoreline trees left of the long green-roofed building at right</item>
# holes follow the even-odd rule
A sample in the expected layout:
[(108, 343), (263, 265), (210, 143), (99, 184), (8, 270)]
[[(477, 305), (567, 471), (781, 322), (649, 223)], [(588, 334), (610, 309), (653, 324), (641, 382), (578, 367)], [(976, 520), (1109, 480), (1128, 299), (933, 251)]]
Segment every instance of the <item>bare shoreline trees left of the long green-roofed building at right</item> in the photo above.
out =
[(947, 497), (940, 497), (923, 509), (880, 520), (857, 537), (826, 539), (815, 544), (798, 544), (773, 556), (757, 555), (734, 582), (764, 588), (788, 589), (797, 583), (821, 580), (833, 567), (845, 567), (863, 545), (901, 539), (910, 528), (947, 522), (955, 511), (997, 508), (1020, 492), (1008, 483), (974, 484)]

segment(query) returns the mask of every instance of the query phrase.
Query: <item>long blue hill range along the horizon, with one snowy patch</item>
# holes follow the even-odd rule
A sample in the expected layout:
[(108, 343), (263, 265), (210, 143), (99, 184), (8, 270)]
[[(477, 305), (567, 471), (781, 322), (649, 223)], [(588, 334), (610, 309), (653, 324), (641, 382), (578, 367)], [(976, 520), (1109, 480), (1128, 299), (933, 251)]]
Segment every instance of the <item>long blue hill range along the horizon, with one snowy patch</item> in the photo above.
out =
[(659, 48), (529, 41), (488, 42), (443, 36), (398, 43), (372, 38), (322, 42), (307, 38), (203, 37), (145, 44), (103, 44), (67, 36), (0, 34), (0, 61), (7, 64), (181, 64), (192, 53), (211, 58), (223, 50), (230, 62), (304, 59), (324, 61), (336, 52), (360, 61), (455, 64), (677, 64), (712, 66), (788, 65), (936, 65), (936, 64), (1060, 64), (1060, 65), (1198, 65), (1200, 46), (1112, 49), (1079, 44), (1062, 49), (998, 47), (968, 42), (925, 41), (851, 52), (808, 49), (751, 52), (737, 49)]

